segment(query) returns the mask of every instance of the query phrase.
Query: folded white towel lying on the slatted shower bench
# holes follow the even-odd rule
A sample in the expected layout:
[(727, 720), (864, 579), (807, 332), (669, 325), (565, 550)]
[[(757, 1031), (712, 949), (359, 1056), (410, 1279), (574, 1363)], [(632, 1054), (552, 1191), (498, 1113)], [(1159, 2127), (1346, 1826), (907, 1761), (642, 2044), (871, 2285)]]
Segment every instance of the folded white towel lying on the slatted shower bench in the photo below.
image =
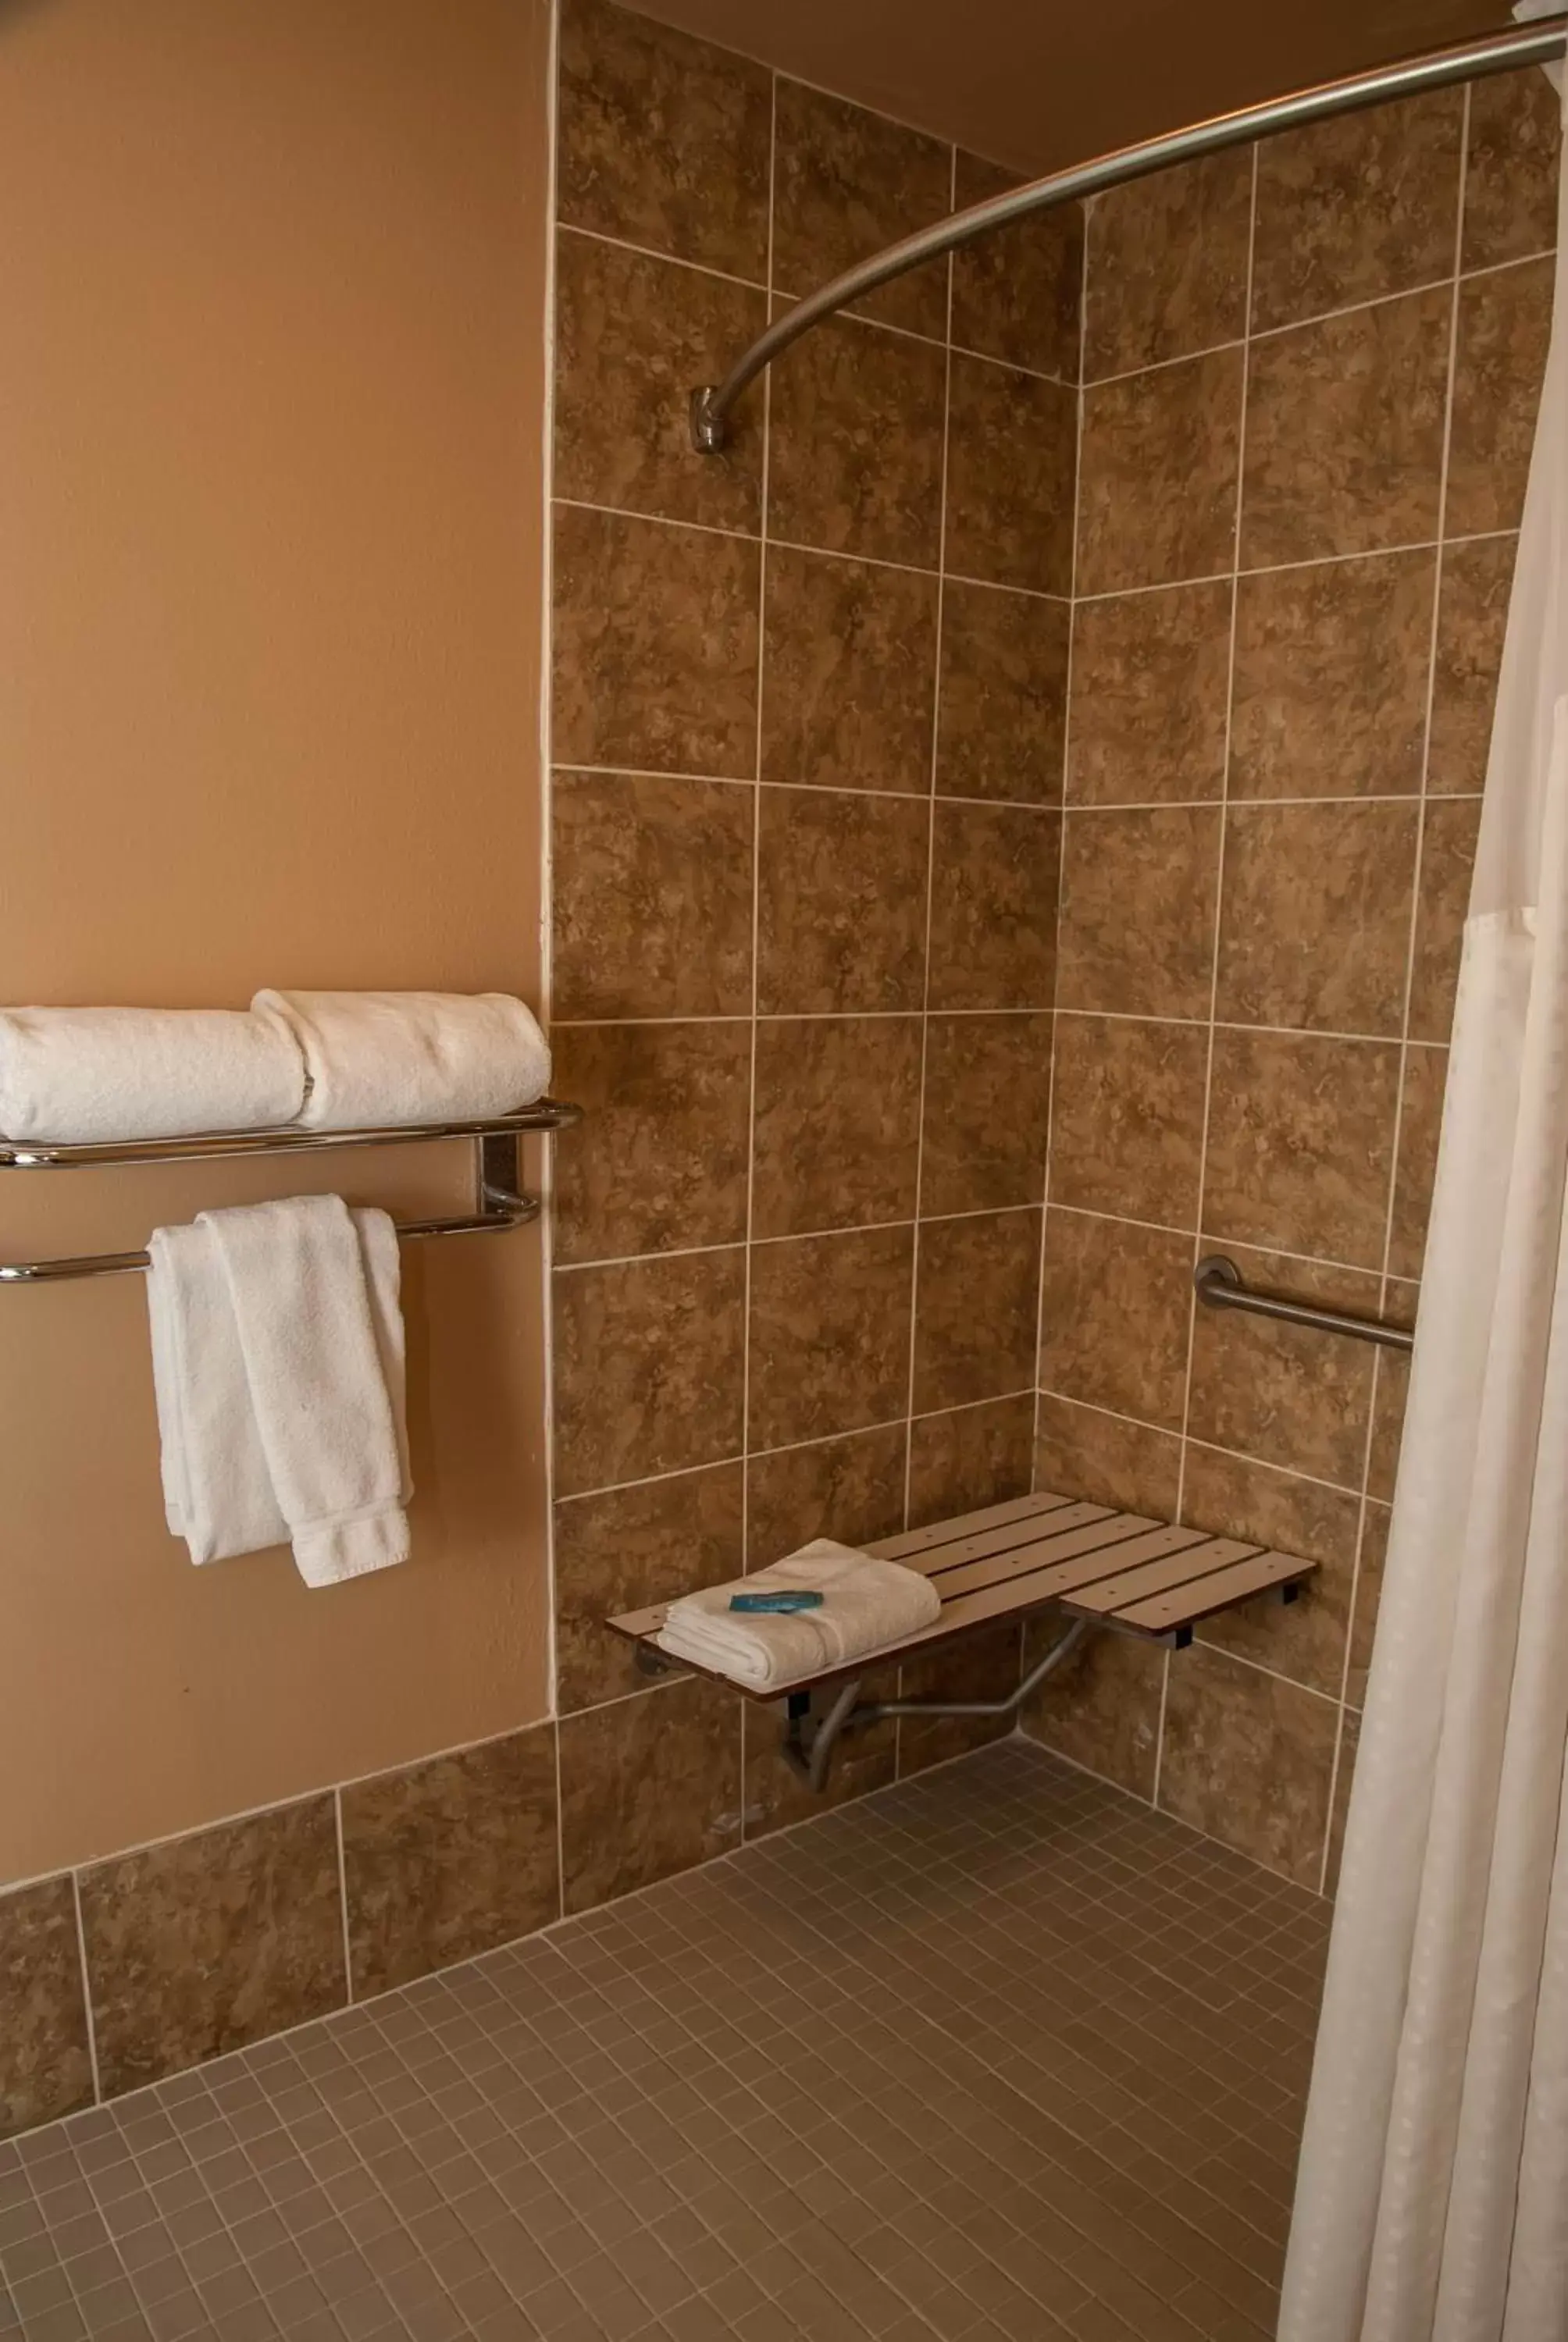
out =
[[(731, 1611), (731, 1595), (820, 1593), (820, 1609)], [(881, 1562), (818, 1536), (729, 1586), (680, 1595), (663, 1614), (656, 1642), (757, 1691), (825, 1675), (933, 1625), (942, 1602), (919, 1569)]]

